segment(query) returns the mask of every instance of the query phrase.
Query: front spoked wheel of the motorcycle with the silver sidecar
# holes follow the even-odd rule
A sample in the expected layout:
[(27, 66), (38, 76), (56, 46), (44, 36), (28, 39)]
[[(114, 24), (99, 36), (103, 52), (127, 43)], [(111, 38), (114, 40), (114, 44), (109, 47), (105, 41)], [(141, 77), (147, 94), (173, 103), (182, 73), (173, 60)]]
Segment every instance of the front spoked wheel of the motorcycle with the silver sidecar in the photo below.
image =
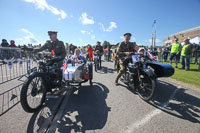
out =
[(46, 86), (39, 73), (30, 76), (22, 86), (20, 100), (24, 111), (33, 113), (42, 107), (46, 98)]

